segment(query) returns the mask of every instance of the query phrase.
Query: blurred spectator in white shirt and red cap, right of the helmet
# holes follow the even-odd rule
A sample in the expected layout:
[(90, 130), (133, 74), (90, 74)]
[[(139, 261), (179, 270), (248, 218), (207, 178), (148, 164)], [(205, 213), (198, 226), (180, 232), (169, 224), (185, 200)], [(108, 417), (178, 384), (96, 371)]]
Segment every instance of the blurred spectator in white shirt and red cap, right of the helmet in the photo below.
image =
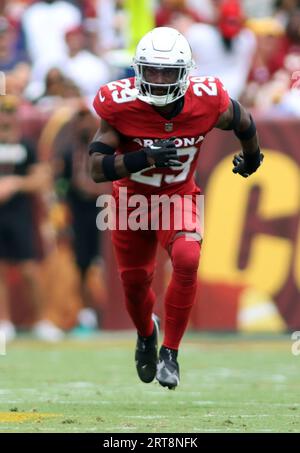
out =
[(218, 26), (193, 23), (187, 16), (174, 18), (171, 26), (184, 33), (196, 63), (193, 75), (220, 78), (232, 98), (238, 99), (247, 82), (256, 49), (254, 34), (244, 26), (237, 0), (220, 5)]

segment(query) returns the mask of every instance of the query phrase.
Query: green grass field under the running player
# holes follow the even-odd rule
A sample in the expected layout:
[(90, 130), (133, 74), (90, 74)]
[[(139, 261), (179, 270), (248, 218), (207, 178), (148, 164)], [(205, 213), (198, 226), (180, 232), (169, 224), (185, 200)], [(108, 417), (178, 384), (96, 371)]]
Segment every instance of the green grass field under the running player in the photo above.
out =
[(139, 382), (135, 334), (0, 356), (0, 432), (300, 432), (300, 356), (289, 336), (188, 335), (181, 384)]

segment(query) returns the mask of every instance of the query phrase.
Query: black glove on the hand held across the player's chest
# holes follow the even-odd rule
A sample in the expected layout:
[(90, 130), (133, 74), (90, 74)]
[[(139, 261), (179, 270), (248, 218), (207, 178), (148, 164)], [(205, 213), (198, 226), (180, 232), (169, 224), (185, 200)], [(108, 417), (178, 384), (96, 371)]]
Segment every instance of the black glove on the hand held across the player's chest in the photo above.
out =
[(151, 147), (144, 148), (147, 157), (151, 157), (155, 166), (162, 167), (180, 167), (181, 162), (178, 160), (177, 149), (174, 145), (174, 139), (158, 140)]

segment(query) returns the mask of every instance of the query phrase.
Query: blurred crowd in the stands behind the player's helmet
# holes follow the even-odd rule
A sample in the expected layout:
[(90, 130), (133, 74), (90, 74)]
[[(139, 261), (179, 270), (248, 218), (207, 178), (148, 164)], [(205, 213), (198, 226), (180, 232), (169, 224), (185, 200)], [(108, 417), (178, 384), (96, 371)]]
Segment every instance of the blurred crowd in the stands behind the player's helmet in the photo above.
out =
[[(80, 96), (91, 105), (101, 84), (132, 74), (129, 3), (1, 0), (0, 71), (7, 93), (44, 108)], [(195, 75), (220, 77), (247, 107), (298, 114), (298, 93), (290, 90), (300, 69), (298, 0), (142, 3), (153, 25), (186, 35)]]

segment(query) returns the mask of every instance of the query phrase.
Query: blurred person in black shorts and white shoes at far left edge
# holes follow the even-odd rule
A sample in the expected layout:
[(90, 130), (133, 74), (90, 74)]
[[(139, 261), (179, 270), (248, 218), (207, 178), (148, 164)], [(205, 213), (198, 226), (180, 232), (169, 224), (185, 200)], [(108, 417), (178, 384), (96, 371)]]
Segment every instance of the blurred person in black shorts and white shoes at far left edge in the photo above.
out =
[(36, 237), (30, 195), (48, 189), (48, 167), (37, 162), (34, 148), (25, 142), (18, 124), (18, 101), (0, 98), (0, 328), (13, 340), (15, 327), (10, 321), (6, 271), (18, 264), (35, 308), (35, 334), (56, 341), (60, 329), (43, 319), (45, 297), (41, 289), (37, 262)]

